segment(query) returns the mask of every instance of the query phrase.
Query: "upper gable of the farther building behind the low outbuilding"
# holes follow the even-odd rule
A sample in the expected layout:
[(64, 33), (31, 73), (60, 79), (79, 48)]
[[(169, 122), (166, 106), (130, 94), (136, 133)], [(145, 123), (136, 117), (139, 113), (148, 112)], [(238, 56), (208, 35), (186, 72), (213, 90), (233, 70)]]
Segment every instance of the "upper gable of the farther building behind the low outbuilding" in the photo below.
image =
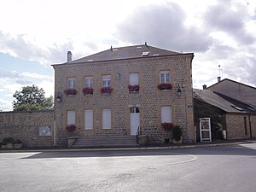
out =
[(247, 84), (241, 84), (234, 80), (223, 79), (218, 83), (205, 87), (207, 90), (216, 90), (226, 96), (230, 96), (242, 102), (256, 105), (256, 88)]

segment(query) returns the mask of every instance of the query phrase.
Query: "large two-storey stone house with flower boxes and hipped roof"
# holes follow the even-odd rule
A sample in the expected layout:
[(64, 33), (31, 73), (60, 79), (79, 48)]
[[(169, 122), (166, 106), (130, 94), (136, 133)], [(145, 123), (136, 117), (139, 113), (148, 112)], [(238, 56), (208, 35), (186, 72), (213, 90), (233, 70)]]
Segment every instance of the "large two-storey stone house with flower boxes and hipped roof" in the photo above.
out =
[(56, 144), (67, 145), (67, 137), (136, 135), (138, 126), (149, 143), (163, 143), (171, 137), (163, 123), (180, 125), (183, 141), (195, 142), (193, 57), (147, 44), (75, 61), (68, 51), (66, 63), (53, 65)]

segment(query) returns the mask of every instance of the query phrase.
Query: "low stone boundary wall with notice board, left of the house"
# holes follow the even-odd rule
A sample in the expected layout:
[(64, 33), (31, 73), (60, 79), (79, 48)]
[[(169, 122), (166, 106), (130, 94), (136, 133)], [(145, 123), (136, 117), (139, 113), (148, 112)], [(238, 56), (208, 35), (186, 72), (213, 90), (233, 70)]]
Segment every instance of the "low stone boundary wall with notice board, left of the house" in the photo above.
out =
[(14, 137), (20, 139), (25, 148), (52, 147), (54, 146), (53, 135), (53, 110), (0, 113), (0, 140), (4, 137)]

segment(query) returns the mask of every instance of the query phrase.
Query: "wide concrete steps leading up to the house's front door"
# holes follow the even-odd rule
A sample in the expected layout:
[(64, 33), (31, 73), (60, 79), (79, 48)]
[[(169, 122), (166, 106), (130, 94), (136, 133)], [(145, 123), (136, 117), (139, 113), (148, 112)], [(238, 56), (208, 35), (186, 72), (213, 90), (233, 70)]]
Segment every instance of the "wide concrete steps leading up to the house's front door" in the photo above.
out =
[(137, 137), (78, 137), (72, 148), (136, 147)]

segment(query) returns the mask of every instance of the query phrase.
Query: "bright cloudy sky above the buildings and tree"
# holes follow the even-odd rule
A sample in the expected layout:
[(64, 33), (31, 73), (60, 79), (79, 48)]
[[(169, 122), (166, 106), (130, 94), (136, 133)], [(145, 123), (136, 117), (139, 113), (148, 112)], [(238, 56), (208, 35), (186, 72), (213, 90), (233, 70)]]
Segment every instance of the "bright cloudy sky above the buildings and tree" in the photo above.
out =
[(51, 64), (144, 44), (194, 52), (193, 86), (256, 86), (255, 0), (8, 0), (0, 11), (0, 110), (36, 84), (54, 95)]

